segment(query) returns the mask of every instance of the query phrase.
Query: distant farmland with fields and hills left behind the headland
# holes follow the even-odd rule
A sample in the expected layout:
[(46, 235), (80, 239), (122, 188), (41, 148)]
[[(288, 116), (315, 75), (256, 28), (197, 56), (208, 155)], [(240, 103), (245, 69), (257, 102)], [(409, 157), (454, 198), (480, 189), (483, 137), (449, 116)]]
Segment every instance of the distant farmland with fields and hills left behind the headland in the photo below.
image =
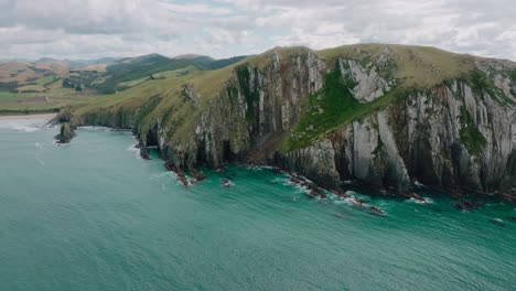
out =
[(184, 55), (169, 58), (150, 54), (94, 61), (43, 57), (34, 63), (3, 63), (0, 64), (0, 111), (55, 111), (66, 105), (101, 99), (107, 94), (143, 83), (221, 68), (243, 57), (214, 60)]

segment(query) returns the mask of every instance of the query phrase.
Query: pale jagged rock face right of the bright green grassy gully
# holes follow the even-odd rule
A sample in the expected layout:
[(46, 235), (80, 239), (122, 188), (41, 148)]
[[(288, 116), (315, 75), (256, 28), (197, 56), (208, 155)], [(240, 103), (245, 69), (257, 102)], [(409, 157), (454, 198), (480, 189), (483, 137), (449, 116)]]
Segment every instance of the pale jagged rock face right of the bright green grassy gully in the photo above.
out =
[[(513, 111), (475, 95), (463, 83), (454, 82), (450, 87), (417, 93), (401, 104), (344, 126), (309, 148), (315, 152), (313, 157), (324, 158), (305, 173), (310, 176), (337, 168), (337, 181), (356, 179), (399, 191), (407, 191), (411, 180), (482, 192), (499, 188), (515, 149)], [(463, 120), (464, 115), (471, 117), (471, 123)], [(464, 138), (465, 133), (472, 126), (484, 141), (467, 140), (471, 137)], [(333, 141), (334, 147), (323, 147), (327, 141)], [(294, 165), (295, 161), (290, 160), (305, 151), (284, 154), (287, 164)]]

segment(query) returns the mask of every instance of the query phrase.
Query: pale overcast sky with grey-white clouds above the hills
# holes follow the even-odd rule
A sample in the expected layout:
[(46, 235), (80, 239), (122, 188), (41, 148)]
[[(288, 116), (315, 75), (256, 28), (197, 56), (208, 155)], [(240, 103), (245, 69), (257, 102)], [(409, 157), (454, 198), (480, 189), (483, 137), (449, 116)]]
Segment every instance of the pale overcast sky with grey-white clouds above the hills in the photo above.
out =
[(515, 0), (0, 0), (0, 58), (433, 45), (516, 60)]

